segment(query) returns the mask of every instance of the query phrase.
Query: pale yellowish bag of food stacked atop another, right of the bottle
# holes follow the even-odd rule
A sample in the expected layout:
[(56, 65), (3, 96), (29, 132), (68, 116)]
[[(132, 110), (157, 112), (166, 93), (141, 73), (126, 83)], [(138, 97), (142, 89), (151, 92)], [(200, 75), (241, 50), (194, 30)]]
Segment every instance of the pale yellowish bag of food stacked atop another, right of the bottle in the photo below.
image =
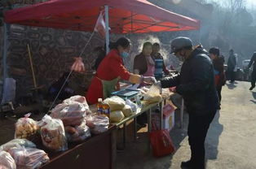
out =
[(121, 111), (126, 106), (126, 102), (117, 96), (106, 98), (104, 103), (110, 106), (110, 111)]

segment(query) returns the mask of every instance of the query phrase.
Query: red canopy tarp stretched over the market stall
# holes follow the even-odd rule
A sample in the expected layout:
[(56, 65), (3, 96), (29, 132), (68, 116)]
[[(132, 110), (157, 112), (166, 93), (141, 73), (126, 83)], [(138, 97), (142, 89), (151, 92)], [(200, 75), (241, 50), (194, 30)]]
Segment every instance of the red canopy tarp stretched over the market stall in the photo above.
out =
[(200, 21), (166, 11), (146, 0), (51, 0), (6, 11), (5, 22), (91, 32), (99, 11), (109, 6), (115, 33), (196, 30)]

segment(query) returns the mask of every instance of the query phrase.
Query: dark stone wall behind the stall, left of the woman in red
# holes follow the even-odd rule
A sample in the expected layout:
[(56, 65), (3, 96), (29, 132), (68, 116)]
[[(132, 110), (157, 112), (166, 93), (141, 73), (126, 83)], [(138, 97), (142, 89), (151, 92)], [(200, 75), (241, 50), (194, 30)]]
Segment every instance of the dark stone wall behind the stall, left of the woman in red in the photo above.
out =
[[(64, 72), (69, 72), (73, 57), (79, 56), (90, 37), (89, 32), (73, 32), (52, 28), (11, 25), (7, 55), (8, 76), (16, 80), (17, 98), (33, 88), (33, 76), (27, 45), (31, 47), (33, 67), (38, 85), (50, 85)], [(91, 49), (104, 42), (95, 35), (82, 54), (86, 70), (94, 64)]]

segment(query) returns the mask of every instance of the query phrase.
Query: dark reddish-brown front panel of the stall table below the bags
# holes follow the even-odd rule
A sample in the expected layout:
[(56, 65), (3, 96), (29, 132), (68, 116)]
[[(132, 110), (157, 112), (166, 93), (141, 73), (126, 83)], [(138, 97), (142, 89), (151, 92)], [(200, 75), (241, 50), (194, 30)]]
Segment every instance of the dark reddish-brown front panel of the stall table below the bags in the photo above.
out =
[(64, 152), (47, 152), (51, 161), (41, 169), (113, 169), (116, 140), (116, 126), (112, 126), (107, 132), (91, 137), (79, 145), (70, 145)]

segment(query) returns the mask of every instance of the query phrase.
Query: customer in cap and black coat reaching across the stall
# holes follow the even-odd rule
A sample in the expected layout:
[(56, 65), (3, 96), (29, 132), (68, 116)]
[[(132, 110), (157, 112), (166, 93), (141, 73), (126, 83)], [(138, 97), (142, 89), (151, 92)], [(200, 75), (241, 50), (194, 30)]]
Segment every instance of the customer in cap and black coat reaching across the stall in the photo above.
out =
[(176, 87), (183, 96), (189, 115), (188, 141), (191, 159), (181, 163), (183, 168), (205, 168), (205, 137), (218, 107), (214, 86), (214, 67), (201, 46), (193, 47), (188, 37), (171, 41), (171, 53), (183, 61), (178, 76), (157, 82), (161, 88)]

